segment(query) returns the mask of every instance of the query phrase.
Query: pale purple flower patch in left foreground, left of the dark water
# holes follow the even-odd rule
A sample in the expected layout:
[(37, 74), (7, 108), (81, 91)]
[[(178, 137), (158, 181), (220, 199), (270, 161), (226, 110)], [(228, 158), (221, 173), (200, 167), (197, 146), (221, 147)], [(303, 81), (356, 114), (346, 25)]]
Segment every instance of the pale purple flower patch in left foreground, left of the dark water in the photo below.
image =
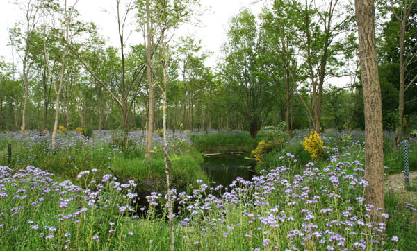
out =
[[(94, 176), (95, 172), (79, 173), (79, 177), (84, 175)], [(90, 238), (95, 240), (95, 249), (101, 250), (100, 239), (109, 239), (112, 232), (126, 231), (120, 223), (127, 212), (134, 211), (133, 199), (138, 196), (133, 192), (135, 182), (120, 184), (106, 176), (105, 182), (90, 182), (83, 188), (69, 180), (55, 182), (52, 177), (33, 166), (17, 171), (0, 166), (0, 190), (4, 193), (0, 233), (7, 243), (17, 247), (22, 243), (22, 248), (27, 248), (21, 240), (30, 239), (33, 246), (29, 249), (33, 250), (82, 250), (80, 240), (94, 232)], [(126, 231), (124, 235), (132, 236), (133, 232)]]

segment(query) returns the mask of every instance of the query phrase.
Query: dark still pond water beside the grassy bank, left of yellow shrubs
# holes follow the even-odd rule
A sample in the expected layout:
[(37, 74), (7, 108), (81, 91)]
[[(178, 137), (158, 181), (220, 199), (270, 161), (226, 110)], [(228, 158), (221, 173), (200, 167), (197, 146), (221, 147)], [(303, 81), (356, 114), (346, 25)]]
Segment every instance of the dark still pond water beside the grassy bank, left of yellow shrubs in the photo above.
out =
[(212, 182), (211, 187), (218, 184), (227, 187), (238, 177), (251, 180), (252, 176), (256, 174), (254, 171), (256, 161), (244, 159), (244, 157), (247, 157), (247, 154), (222, 154), (204, 157), (201, 166)]

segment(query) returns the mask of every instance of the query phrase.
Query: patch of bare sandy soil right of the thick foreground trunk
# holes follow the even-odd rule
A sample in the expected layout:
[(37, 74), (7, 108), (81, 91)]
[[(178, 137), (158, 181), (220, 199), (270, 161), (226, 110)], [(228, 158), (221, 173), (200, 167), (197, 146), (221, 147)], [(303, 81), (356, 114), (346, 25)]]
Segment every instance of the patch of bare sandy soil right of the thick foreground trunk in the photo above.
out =
[[(410, 172), (410, 186), (415, 187), (417, 184), (417, 171)], [(417, 201), (416, 191), (407, 191), (405, 189), (404, 173), (395, 173), (385, 178), (385, 189), (391, 192), (400, 192), (404, 198)]]

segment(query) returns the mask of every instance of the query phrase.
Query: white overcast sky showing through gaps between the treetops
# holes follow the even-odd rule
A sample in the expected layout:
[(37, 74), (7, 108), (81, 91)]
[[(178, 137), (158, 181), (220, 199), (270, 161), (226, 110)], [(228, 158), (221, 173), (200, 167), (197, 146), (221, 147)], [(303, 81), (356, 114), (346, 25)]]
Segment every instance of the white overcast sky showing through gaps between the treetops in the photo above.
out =
[[(26, 0), (18, 0), (26, 1)], [(202, 40), (205, 50), (213, 51), (208, 58), (207, 65), (215, 66), (220, 55), (220, 47), (225, 40), (227, 23), (230, 17), (236, 15), (242, 8), (252, 8), (255, 13), (260, 12), (260, 5), (251, 4), (254, 0), (201, 0), (202, 9), (205, 10), (202, 17), (202, 27), (193, 28), (183, 26), (178, 35), (195, 35)], [(267, 2), (263, 0), (263, 2)], [(109, 44), (117, 46), (117, 23), (113, 12), (115, 0), (79, 0), (76, 9), (81, 13), (81, 19), (94, 21), (100, 28), (101, 35), (109, 39)], [(104, 12), (108, 10), (108, 12)], [(8, 28), (12, 27), (23, 14), (10, 0), (0, 0), (0, 55), (11, 61), (11, 48), (8, 44)], [(129, 43), (138, 44), (142, 41), (142, 35), (129, 38)]]

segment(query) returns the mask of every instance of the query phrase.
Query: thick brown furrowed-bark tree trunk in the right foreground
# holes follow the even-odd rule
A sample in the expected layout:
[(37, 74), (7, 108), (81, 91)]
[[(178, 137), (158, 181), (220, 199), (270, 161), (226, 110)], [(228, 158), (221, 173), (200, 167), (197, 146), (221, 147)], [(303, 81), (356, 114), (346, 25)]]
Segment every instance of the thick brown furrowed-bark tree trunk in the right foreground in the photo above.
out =
[(359, 60), (365, 105), (365, 180), (366, 204), (373, 205), (374, 223), (384, 220), (384, 152), (382, 101), (375, 45), (375, 6), (373, 0), (355, 0), (359, 37)]

